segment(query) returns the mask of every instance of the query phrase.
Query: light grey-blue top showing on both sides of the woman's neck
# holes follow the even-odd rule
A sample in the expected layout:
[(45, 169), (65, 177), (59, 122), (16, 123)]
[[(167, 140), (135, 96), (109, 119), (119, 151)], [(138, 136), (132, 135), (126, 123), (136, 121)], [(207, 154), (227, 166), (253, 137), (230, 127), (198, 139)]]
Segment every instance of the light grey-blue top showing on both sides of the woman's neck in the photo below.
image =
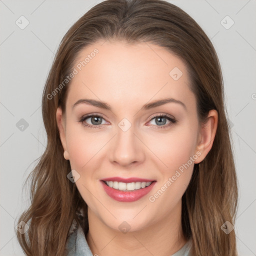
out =
[[(81, 221), (83, 221), (83, 214), (79, 215)], [(86, 241), (84, 231), (81, 227), (81, 223), (77, 223), (74, 219), (72, 225), (69, 229), (67, 241), (66, 241), (66, 252), (67, 256), (93, 256)], [(190, 248), (192, 246), (191, 240), (188, 240), (183, 247), (181, 247), (177, 252), (170, 256), (191, 256)]]

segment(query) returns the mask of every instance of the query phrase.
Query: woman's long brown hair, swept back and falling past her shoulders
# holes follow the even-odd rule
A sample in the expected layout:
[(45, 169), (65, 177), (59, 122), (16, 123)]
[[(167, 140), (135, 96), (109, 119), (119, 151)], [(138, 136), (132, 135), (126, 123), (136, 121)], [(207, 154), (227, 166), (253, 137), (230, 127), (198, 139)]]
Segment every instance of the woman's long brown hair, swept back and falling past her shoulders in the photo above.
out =
[[(58, 106), (65, 112), (70, 82), (59, 84), (72, 72), (76, 56), (100, 39), (144, 41), (164, 47), (188, 67), (199, 121), (206, 120), (210, 109), (217, 110), (212, 148), (194, 165), (182, 196), (182, 230), (192, 239), (193, 255), (237, 255), (234, 230), (228, 234), (221, 230), (225, 221), (234, 225), (237, 179), (220, 64), (200, 26), (179, 7), (163, 0), (105, 0), (80, 17), (61, 40), (42, 95), (47, 146), (26, 179), (31, 175), (31, 205), (18, 219), (29, 225), (24, 234), (16, 232), (24, 253), (64, 255), (67, 233), (73, 218), (77, 220), (78, 208), (85, 212), (83, 228), (88, 231), (87, 205), (75, 183), (66, 177), (71, 168), (63, 157), (55, 113)], [(57, 87), (61, 89), (56, 91)]]

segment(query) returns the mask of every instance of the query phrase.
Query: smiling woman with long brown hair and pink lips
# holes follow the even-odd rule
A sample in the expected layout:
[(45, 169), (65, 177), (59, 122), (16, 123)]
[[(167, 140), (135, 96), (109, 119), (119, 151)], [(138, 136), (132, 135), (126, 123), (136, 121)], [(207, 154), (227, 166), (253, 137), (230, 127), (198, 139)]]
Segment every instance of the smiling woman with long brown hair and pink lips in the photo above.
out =
[(221, 70), (180, 8), (92, 7), (60, 43), (42, 115), (26, 255), (237, 255)]

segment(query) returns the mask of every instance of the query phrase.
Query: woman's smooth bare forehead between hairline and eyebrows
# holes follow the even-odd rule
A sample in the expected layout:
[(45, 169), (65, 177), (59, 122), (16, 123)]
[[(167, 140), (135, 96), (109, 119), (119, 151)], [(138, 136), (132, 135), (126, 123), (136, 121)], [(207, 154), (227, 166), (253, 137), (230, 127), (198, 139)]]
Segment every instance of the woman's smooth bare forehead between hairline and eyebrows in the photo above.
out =
[(183, 102), (193, 97), (183, 61), (148, 42), (94, 43), (79, 52), (74, 68), (77, 74), (69, 84), (67, 105), (82, 97), (102, 99), (118, 108), (166, 96)]

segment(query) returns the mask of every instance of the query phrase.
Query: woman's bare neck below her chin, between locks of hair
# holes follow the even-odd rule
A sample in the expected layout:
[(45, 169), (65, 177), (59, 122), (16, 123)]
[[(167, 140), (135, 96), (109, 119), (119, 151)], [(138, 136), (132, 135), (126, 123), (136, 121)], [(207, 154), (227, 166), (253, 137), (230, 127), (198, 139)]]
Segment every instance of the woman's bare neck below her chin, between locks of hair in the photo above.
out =
[(89, 208), (88, 222), (86, 240), (93, 255), (165, 256), (174, 254), (187, 241), (181, 227), (181, 201), (166, 218), (133, 232), (110, 228)]

